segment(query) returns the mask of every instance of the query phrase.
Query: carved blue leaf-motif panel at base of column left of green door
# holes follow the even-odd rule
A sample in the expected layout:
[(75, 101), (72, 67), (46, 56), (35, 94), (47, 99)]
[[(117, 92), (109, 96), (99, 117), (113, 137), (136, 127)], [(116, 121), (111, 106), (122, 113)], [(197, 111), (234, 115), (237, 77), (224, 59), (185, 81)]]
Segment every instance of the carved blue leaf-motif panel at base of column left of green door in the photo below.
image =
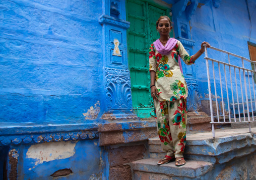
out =
[(105, 68), (106, 110), (126, 110), (131, 113), (132, 94), (130, 72), (122, 69)]

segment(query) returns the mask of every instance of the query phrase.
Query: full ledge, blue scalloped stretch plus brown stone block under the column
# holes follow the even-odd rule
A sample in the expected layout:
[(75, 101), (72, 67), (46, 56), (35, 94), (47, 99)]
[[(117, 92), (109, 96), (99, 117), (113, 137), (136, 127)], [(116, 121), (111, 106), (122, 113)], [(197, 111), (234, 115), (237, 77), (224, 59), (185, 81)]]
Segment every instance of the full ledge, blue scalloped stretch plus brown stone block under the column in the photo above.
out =
[(10, 124), (0, 128), (0, 146), (93, 138), (99, 138), (100, 145), (109, 145), (147, 140), (156, 136), (156, 132), (155, 121), (26, 126)]

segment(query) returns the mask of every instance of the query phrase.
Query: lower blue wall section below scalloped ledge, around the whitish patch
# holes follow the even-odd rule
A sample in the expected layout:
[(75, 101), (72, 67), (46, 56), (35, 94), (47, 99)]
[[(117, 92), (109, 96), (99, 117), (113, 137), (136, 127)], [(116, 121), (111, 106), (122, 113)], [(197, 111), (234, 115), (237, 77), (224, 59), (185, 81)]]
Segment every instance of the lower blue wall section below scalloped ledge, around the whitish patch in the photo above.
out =
[[(20, 149), (17, 179), (54, 179), (50, 175), (65, 168), (71, 169), (73, 173), (59, 176), (58, 179), (106, 179), (105, 150), (98, 145), (98, 139), (73, 141), (73, 143), (76, 143), (73, 156), (44, 161), (37, 165), (35, 165), (36, 159), (27, 156), (30, 145), (12, 146), (12, 149)], [(38, 149), (38, 154), (40, 151), (42, 152), (43, 149)]]

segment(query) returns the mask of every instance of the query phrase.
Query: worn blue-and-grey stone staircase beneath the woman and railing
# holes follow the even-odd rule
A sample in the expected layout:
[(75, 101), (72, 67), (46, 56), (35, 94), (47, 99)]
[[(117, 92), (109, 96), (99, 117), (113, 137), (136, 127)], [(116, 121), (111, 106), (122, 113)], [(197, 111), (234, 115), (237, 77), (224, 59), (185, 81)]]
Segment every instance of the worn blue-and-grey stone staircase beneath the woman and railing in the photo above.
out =
[[(256, 133), (256, 128), (252, 128), (252, 130)], [(216, 179), (213, 177), (218, 177), (222, 168), (232, 166), (230, 164), (233, 164), (235, 159), (241, 158), (238, 161), (242, 162), (244, 156), (256, 152), (254, 133), (248, 133), (247, 128), (226, 128), (218, 129), (215, 139), (212, 138), (212, 132), (188, 134), (184, 152), (186, 164), (180, 167), (175, 166), (175, 162), (157, 165), (158, 160), (163, 158), (166, 153), (162, 151), (159, 138), (151, 138), (148, 141), (149, 158), (129, 163), (133, 179)], [(246, 161), (246, 163), (248, 162)], [(240, 168), (232, 166), (232, 172), (234, 170), (233, 173), (242, 174), (243, 172), (239, 171)]]

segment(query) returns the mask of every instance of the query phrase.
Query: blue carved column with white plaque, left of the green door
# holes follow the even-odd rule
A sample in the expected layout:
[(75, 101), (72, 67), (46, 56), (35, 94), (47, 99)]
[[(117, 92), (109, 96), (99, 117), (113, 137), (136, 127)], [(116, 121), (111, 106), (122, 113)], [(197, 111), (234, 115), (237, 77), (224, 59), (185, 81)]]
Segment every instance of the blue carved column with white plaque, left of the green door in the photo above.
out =
[(125, 21), (125, 1), (106, 0), (104, 3), (104, 14), (99, 18), (99, 23), (103, 26), (103, 45), (105, 45), (103, 50), (105, 112), (101, 119), (138, 118), (132, 108), (126, 41), (126, 29), (130, 28), (130, 22)]

